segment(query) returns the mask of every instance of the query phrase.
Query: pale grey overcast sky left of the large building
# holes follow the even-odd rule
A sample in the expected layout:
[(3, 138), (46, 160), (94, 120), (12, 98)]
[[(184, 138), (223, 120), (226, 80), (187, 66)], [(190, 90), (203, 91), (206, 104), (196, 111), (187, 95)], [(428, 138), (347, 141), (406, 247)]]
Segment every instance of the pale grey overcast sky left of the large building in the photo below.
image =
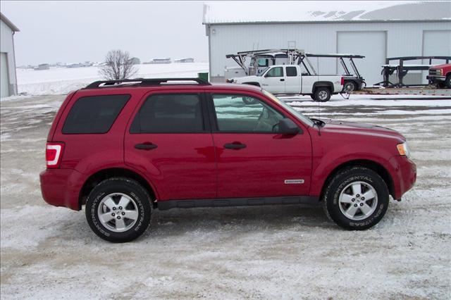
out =
[(19, 29), (16, 65), (103, 61), (123, 49), (155, 57), (208, 59), (202, 1), (1, 1)]

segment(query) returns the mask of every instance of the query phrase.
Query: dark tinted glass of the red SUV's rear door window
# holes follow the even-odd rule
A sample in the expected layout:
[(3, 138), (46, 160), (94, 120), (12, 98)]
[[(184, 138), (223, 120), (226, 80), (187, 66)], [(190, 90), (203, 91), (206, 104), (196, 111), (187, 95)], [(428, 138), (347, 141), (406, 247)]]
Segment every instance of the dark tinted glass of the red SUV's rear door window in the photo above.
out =
[(149, 96), (130, 127), (130, 133), (194, 133), (204, 130), (199, 94)]

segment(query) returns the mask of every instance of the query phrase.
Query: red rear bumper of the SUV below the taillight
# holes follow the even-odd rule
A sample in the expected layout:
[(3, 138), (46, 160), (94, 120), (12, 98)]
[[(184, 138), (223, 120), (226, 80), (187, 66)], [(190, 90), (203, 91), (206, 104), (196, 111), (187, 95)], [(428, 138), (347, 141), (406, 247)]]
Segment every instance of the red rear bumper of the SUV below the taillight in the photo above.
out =
[(72, 169), (47, 169), (39, 174), (42, 198), (53, 206), (80, 211), (79, 194), (83, 175)]

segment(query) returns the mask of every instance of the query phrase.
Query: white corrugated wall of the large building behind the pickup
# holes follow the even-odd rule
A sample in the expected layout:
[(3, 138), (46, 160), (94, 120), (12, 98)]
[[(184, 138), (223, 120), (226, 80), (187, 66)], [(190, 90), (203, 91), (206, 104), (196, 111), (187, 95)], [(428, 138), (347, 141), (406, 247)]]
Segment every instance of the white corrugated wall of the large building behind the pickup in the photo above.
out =
[[(338, 32), (386, 32), (386, 42), (374, 49), (374, 56), (379, 56), (384, 50), (388, 57), (421, 56), (424, 31), (431, 30), (451, 30), (451, 22), (210, 25), (210, 74), (212, 80), (223, 81), (224, 68), (236, 66), (233, 60), (226, 58), (226, 54), (253, 49), (287, 48), (289, 41), (295, 41), (297, 49), (307, 52), (336, 53)], [(371, 42), (367, 40), (371, 39), (371, 35), (358, 36), (359, 39), (352, 45), (352, 49), (356, 49), (353, 54), (360, 54), (359, 44)], [(441, 42), (438, 44), (443, 45)], [(447, 49), (440, 49), (437, 55), (444, 53), (451, 56), (451, 44)], [(368, 65), (369, 63), (374, 65)], [(314, 64), (316, 65), (316, 61)], [(321, 73), (341, 73), (335, 61), (321, 59), (319, 64)], [(370, 85), (382, 80), (381, 65), (376, 64), (371, 59), (358, 63), (365, 70), (372, 70), (371, 74), (363, 74)]]

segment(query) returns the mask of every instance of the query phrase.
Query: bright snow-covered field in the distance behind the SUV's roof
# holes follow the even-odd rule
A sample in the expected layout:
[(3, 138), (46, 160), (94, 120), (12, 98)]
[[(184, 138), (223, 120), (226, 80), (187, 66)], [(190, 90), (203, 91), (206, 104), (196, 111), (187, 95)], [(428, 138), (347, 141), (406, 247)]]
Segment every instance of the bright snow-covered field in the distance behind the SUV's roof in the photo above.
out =
[[(135, 77), (197, 77), (208, 72), (208, 63), (168, 63), (136, 65)], [(68, 94), (96, 80), (101, 80), (99, 67), (50, 68), (49, 70), (18, 69), (18, 92), (30, 95)], [(2, 99), (3, 101), (3, 99)]]

